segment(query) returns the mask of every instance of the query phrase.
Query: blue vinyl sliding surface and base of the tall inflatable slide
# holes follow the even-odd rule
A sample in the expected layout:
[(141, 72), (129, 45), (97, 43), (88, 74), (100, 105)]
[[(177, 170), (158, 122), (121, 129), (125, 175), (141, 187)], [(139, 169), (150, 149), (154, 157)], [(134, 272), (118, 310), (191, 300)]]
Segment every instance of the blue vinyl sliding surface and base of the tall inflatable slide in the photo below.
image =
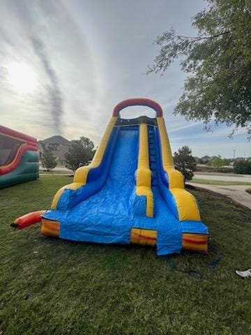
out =
[[(47, 211), (45, 218), (60, 221), (63, 239), (107, 244), (130, 244), (132, 228), (156, 230), (158, 255), (181, 251), (181, 223), (169, 210), (158, 190), (158, 155), (155, 142), (151, 150), (152, 191), (154, 217), (135, 214), (133, 202), (145, 202), (135, 195), (135, 171), (137, 170), (139, 126), (121, 127), (116, 137), (107, 177), (100, 190), (70, 210)], [(109, 150), (111, 148), (107, 148)], [(108, 155), (107, 155), (108, 156)], [(67, 190), (68, 191), (68, 190)]]

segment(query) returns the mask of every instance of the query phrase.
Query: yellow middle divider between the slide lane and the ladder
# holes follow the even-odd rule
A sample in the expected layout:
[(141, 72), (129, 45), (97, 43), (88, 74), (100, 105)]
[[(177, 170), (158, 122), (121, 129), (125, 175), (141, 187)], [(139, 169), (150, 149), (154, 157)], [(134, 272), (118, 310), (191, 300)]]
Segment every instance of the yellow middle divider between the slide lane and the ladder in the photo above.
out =
[(153, 192), (151, 191), (151, 170), (149, 168), (149, 144), (146, 124), (139, 125), (136, 194), (146, 196), (146, 216), (153, 217)]

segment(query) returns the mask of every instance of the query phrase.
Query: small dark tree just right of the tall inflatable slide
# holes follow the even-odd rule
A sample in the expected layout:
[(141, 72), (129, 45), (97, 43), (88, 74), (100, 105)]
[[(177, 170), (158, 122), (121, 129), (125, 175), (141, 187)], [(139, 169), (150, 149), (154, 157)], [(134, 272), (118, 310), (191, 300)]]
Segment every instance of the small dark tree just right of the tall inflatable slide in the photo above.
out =
[(184, 146), (174, 152), (174, 166), (185, 177), (185, 181), (189, 181), (194, 176), (196, 170), (195, 158), (192, 156), (192, 150)]

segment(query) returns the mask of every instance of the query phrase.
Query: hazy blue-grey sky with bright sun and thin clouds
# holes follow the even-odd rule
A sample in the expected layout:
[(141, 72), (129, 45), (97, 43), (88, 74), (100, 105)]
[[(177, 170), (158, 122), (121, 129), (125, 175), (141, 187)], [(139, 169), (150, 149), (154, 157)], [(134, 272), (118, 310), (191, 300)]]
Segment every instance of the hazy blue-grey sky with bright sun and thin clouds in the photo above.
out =
[[(251, 156), (245, 130), (174, 116), (185, 74), (176, 61), (164, 75), (146, 75), (158, 54), (156, 37), (171, 27), (196, 36), (191, 17), (202, 0), (1, 0), (0, 124), (44, 140), (89, 137), (98, 146), (114, 106), (151, 98), (163, 108), (172, 151), (194, 156)], [(128, 107), (121, 117), (146, 114)]]

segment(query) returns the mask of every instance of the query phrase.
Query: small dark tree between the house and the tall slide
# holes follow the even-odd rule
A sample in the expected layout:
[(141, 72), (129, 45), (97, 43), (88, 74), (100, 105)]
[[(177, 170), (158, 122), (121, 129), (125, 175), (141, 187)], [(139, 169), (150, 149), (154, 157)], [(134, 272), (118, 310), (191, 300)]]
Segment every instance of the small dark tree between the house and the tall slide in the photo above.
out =
[(87, 137), (72, 141), (65, 154), (66, 168), (75, 171), (79, 166), (88, 165), (94, 155), (93, 148), (93, 142)]

